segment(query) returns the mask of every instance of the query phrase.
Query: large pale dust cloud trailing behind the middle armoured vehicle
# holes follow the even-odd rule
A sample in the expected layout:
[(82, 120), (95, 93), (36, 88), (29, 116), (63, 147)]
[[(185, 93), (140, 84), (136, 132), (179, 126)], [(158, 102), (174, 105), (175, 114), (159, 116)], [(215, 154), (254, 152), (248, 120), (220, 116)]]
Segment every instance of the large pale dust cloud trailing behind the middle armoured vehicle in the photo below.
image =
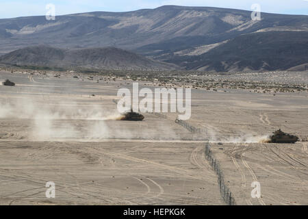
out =
[(104, 120), (120, 120), (122, 115), (95, 104), (85, 107), (77, 103), (44, 103), (18, 98), (0, 102), (0, 118), (29, 119), (31, 128), (27, 130), (27, 138), (49, 141), (107, 138), (110, 131)]

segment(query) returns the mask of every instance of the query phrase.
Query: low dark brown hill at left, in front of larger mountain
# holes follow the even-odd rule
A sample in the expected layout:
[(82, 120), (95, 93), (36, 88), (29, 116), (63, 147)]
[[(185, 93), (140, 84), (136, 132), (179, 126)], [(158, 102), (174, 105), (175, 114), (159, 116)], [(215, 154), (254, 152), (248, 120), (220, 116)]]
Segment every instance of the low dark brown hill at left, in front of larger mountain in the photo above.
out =
[(0, 57), (0, 63), (18, 66), (103, 68), (118, 70), (173, 70), (174, 64), (149, 60), (123, 49), (57, 49), (45, 45), (26, 47)]

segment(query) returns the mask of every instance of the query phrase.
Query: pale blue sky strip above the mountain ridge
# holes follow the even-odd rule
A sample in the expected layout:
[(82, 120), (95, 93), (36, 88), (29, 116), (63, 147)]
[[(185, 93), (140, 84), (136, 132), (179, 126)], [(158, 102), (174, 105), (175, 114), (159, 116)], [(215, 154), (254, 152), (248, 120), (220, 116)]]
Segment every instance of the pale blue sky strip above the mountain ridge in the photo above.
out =
[(261, 12), (308, 15), (308, 0), (0, 0), (0, 18), (45, 15), (49, 3), (55, 5), (56, 16), (95, 11), (127, 12), (162, 5), (251, 10), (254, 3), (261, 6)]

